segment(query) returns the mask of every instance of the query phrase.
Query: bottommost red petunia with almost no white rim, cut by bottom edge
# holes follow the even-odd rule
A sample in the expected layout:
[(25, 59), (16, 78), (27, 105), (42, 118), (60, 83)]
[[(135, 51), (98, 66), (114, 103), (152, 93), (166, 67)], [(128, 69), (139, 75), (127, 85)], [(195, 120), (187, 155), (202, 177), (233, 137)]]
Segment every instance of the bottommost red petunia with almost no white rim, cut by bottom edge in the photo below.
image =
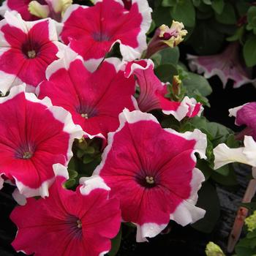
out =
[[(64, 169), (63, 166), (55, 168)], [(63, 172), (63, 170), (61, 170)], [(110, 188), (99, 177), (85, 181), (76, 191), (64, 189), (57, 176), (50, 196), (29, 198), (10, 215), (18, 227), (12, 246), (27, 255), (98, 256), (110, 250), (118, 233), (121, 213)]]

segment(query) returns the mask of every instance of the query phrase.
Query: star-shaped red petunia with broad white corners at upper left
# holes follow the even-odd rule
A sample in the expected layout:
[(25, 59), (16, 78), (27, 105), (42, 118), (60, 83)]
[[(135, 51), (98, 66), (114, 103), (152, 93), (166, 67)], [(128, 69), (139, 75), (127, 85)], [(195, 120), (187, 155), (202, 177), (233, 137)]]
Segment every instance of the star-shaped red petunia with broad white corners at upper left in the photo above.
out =
[(65, 45), (58, 42), (53, 20), (26, 22), (6, 12), (0, 21), (0, 91), (22, 82), (34, 90), (45, 80), (45, 69)]

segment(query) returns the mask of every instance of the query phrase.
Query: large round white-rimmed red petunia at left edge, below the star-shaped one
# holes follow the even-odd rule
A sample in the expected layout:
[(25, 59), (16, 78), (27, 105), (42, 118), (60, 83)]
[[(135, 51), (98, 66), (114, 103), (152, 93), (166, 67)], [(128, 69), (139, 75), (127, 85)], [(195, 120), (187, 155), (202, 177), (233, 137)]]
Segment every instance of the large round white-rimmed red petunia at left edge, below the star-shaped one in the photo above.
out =
[(83, 131), (66, 110), (24, 90), (15, 86), (0, 98), (0, 176), (15, 181), (25, 197), (45, 197), (55, 178), (53, 164), (67, 165), (73, 140)]

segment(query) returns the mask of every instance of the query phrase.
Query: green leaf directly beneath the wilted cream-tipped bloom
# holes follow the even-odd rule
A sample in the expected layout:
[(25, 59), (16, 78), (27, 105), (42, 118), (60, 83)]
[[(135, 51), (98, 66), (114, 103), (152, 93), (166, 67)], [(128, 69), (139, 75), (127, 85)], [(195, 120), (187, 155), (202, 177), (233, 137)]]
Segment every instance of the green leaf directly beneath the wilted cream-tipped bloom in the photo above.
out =
[(154, 61), (155, 67), (162, 64), (178, 64), (179, 59), (179, 50), (178, 47), (174, 48), (165, 48), (160, 50), (158, 53), (155, 53), (151, 56), (151, 59)]

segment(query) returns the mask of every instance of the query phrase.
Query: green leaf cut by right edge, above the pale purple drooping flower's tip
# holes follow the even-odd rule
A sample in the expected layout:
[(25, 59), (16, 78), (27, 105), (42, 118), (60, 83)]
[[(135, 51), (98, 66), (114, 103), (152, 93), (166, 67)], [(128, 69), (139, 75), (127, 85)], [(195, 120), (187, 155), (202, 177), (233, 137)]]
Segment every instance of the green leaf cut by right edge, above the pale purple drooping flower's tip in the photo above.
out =
[(244, 60), (247, 67), (252, 67), (256, 64), (256, 36), (249, 37), (243, 48)]

